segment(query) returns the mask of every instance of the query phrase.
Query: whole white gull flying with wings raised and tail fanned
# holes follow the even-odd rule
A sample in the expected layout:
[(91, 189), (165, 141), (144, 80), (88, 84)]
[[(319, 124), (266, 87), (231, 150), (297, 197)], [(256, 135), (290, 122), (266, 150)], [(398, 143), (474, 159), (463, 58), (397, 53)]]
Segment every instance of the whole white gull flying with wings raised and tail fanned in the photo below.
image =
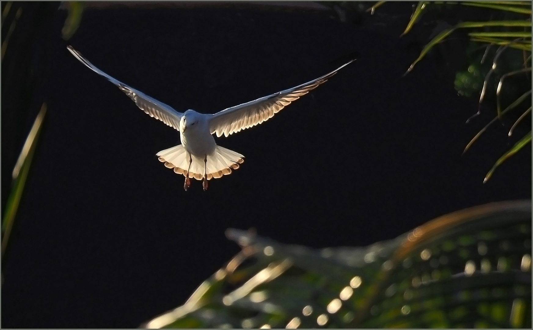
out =
[(244, 162), (243, 155), (218, 146), (215, 143), (213, 134), (216, 134), (219, 138), (222, 135), (228, 137), (245, 128), (265, 122), (291, 102), (296, 101), (301, 96), (309, 93), (309, 91), (325, 83), (338, 70), (354, 61), (351, 60), (327, 75), (288, 90), (239, 104), (216, 112), (216, 114), (200, 114), (190, 109), (178, 112), (167, 106), (167, 104), (159, 102), (104, 73), (87, 61), (72, 46), (67, 46), (67, 49), (85, 66), (108, 79), (126, 95), (130, 96), (135, 104), (150, 117), (159, 119), (180, 132), (182, 144), (161, 150), (157, 153), (157, 156), (159, 156), (160, 162), (165, 163), (166, 167), (173, 168), (175, 173), (185, 176), (183, 185), (185, 191), (190, 187), (192, 178), (203, 180), (205, 191), (207, 190), (208, 180), (228, 175), (232, 170), (237, 170), (239, 164)]

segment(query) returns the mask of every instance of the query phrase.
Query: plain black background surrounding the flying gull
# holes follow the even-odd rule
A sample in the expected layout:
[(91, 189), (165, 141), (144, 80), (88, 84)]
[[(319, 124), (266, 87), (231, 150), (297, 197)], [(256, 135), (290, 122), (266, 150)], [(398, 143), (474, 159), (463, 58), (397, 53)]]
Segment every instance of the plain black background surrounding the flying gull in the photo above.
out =
[[(399, 38), (410, 7), (391, 6), (385, 27), (377, 14), (341, 22), (334, 11), (290, 6), (84, 12), (70, 44), (178, 111), (213, 113), (360, 53), (268, 122), (217, 139), (246, 159), (206, 192), (196, 180), (183, 191), (183, 176), (155, 156), (179, 133), (72, 57), (60, 38), (66, 12), (55, 12), (39, 39), (46, 75), (36, 94), (49, 111), (3, 267), (2, 327), (137, 327), (182, 304), (238, 252), (224, 237), (230, 227), (316, 248), (362, 246), (461, 208), (531, 198), (530, 147), (482, 183), (514, 144), (508, 126), (461, 155), (494, 109), (465, 125), (477, 100), (457, 95), (446, 62), (429, 56), (402, 77), (419, 49)], [(4, 203), (5, 173), (39, 106), (15, 132), (2, 102)]]

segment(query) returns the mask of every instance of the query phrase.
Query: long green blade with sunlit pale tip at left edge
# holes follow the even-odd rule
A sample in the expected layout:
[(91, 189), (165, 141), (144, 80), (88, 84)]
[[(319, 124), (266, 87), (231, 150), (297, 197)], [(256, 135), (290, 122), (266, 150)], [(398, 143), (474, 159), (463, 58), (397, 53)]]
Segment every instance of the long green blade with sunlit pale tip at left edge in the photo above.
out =
[(22, 160), (22, 166), (20, 167), (20, 171), (17, 173), (17, 179), (14, 182), (9, 197), (7, 197), (4, 215), (2, 218), (2, 257), (4, 256), (5, 249), (7, 247), (7, 242), (9, 242), (11, 229), (13, 228), (13, 222), (15, 219), (15, 215), (17, 214), (20, 199), (22, 197), (22, 191), (24, 189), (26, 179), (28, 177), (31, 159), (33, 158), (35, 152), (35, 146), (37, 144), (39, 133), (41, 132), (41, 127), (45, 114), (46, 103), (43, 103), (43, 105), (41, 106), (41, 110), (39, 110), (37, 118), (35, 118), (33, 127), (31, 127), (28, 138), (26, 139), (25, 147), (26, 144), (29, 144), (27, 156), (24, 157), (24, 159)]

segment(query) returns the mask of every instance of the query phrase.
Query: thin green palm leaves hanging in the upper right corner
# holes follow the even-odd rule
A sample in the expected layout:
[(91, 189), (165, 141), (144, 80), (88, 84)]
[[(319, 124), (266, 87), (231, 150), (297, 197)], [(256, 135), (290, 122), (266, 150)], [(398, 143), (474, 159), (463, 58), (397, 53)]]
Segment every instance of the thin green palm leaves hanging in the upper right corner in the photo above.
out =
[[(376, 6), (381, 6), (383, 2), (376, 3), (370, 11), (374, 11)], [(531, 106), (531, 78), (525, 75), (531, 72), (531, 3), (522, 1), (492, 1), (492, 2), (418, 2), (416, 9), (411, 15), (411, 19), (402, 35), (408, 33), (415, 23), (421, 19), (424, 11), (431, 7), (441, 6), (474, 6), (492, 10), (490, 20), (486, 21), (462, 21), (454, 26), (442, 29), (427, 43), (418, 58), (411, 64), (406, 74), (411, 71), (416, 63), (422, 60), (435, 45), (445, 41), (457, 29), (466, 29), (472, 43), (467, 50), (471, 64), (464, 71), (456, 74), (455, 88), (459, 95), (471, 96), (479, 93), (479, 104), (483, 102), (487, 91), (494, 91), (496, 94), (496, 118), (511, 110), (522, 109), (522, 116), (515, 120), (512, 127), (515, 127), (525, 116), (529, 114), (527, 107)], [(480, 47), (481, 45), (481, 47)], [(488, 61), (487, 59), (490, 59)], [(523, 75), (516, 84), (504, 84), (507, 77)], [(508, 106), (502, 110), (503, 88), (506, 88), (506, 101)], [(519, 96), (520, 95), (520, 96)], [(520, 108), (522, 106), (522, 108)], [(480, 109), (474, 115), (480, 114)], [(474, 117), (473, 116), (473, 117)], [(471, 117), (472, 118), (472, 117)], [(471, 119), (469, 118), (469, 120)], [(496, 119), (495, 118), (495, 119)], [(469, 121), (467, 120), (467, 122)], [(487, 126), (474, 136), (467, 144), (464, 152), (472, 146), (479, 136), (494, 123), (491, 120)], [(509, 131), (511, 136), (512, 129)], [(523, 136), (510, 150), (500, 157), (496, 164), (485, 176), (483, 183), (487, 182), (497, 166), (502, 164), (508, 157), (514, 155), (522, 147), (531, 141), (528, 139), (531, 131)]]

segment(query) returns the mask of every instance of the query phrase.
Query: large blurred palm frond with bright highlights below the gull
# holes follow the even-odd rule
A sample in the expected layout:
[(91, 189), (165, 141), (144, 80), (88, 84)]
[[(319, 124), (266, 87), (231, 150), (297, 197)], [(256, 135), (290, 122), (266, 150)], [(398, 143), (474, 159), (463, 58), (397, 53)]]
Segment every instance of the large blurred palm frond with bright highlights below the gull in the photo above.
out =
[(243, 249), (147, 328), (531, 328), (531, 202), (468, 208), (367, 247), (230, 229)]

